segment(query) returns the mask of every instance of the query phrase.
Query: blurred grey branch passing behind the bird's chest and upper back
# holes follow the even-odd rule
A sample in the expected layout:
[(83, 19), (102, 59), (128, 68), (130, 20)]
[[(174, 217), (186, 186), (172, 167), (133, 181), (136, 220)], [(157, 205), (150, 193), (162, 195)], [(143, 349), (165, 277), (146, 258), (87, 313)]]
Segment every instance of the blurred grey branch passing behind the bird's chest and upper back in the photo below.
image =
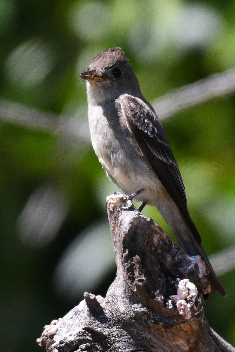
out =
[[(201, 104), (213, 98), (219, 98), (235, 92), (235, 68), (216, 73), (200, 81), (175, 89), (169, 94), (155, 100), (152, 105), (159, 118), (164, 120), (179, 111)], [(74, 119), (68, 116), (58, 116), (25, 107), (0, 98), (0, 119), (16, 125), (23, 125), (36, 131), (46, 131), (60, 134), (66, 138), (80, 139), (80, 142), (90, 142), (87, 120), (81, 121), (75, 128)], [(77, 120), (77, 118), (76, 118)], [(87, 125), (84, 125), (84, 124)]]

